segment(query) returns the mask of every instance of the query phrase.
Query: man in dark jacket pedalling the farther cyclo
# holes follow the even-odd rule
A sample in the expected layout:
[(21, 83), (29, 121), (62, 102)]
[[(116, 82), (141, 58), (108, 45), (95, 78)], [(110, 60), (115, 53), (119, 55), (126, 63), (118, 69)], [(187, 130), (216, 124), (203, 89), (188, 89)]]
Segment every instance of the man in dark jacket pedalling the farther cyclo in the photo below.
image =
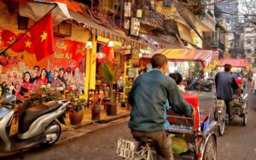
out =
[(229, 114), (229, 119), (232, 118), (232, 110), (230, 102), (233, 98), (233, 89), (238, 89), (235, 77), (230, 73), (232, 66), (230, 64), (224, 65), (224, 71), (218, 72), (215, 77), (216, 93), (218, 100), (224, 100), (226, 111)]

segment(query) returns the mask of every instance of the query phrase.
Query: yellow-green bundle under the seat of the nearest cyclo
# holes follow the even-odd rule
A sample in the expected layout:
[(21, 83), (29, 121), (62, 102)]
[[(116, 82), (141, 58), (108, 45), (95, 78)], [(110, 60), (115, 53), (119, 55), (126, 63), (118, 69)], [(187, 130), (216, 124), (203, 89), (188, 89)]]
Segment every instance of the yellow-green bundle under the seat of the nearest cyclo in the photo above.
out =
[(180, 138), (172, 137), (172, 152), (175, 155), (179, 155), (183, 152), (189, 151), (189, 145), (188, 143)]

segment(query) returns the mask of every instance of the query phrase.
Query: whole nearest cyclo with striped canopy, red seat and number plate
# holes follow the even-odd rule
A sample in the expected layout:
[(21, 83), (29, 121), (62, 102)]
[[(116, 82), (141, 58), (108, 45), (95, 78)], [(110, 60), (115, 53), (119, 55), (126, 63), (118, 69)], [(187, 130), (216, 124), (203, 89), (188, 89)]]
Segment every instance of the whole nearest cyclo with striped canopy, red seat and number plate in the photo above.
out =
[[(200, 61), (202, 66), (209, 66), (217, 53), (212, 50), (197, 49), (160, 49), (154, 54), (165, 54), (169, 61)], [(142, 57), (142, 64), (147, 66), (154, 54)], [(188, 56), (189, 55), (189, 56)], [(198, 95), (183, 94), (183, 98), (195, 107), (193, 117), (184, 117), (174, 111), (168, 111), (167, 119), (171, 123), (168, 130), (172, 135), (172, 151), (175, 159), (216, 159), (217, 143), (216, 135), (213, 132), (217, 122), (211, 121), (209, 114), (200, 114)], [(180, 141), (178, 141), (180, 140)], [(181, 145), (180, 142), (183, 142)], [(151, 149), (154, 146), (153, 140), (140, 139), (137, 141), (119, 138), (117, 154), (126, 159), (154, 159)], [(183, 147), (183, 151), (177, 151)]]

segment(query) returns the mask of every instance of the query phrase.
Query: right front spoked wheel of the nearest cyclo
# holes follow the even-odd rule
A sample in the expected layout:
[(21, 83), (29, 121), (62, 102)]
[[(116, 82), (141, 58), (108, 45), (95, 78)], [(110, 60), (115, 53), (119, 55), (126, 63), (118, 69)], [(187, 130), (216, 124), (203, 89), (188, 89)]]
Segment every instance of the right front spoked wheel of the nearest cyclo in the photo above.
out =
[(217, 159), (217, 143), (213, 135), (210, 135), (207, 140), (207, 145), (205, 146), (203, 152), (203, 160), (216, 160)]

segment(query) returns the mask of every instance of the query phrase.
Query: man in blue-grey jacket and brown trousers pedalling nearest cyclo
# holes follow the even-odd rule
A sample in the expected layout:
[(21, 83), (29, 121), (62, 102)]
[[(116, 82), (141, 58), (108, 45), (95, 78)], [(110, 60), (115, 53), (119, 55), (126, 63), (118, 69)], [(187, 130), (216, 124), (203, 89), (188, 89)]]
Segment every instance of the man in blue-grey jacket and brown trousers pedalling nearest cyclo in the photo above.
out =
[(169, 104), (177, 113), (192, 116), (193, 107), (181, 96), (177, 84), (165, 75), (167, 58), (154, 54), (152, 71), (137, 77), (129, 94), (131, 119), (129, 127), (135, 139), (147, 137), (154, 140), (159, 159), (173, 160), (172, 140), (167, 132), (170, 123), (166, 120)]

